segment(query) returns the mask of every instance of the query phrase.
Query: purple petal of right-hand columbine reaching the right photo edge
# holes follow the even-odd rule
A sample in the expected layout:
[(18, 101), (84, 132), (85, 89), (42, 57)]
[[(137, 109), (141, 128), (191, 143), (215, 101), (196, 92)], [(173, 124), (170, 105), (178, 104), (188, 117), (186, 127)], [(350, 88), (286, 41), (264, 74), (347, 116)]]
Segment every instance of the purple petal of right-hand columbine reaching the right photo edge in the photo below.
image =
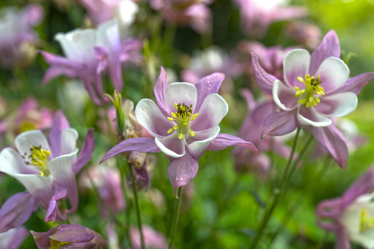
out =
[(352, 92), (356, 95), (360, 94), (362, 88), (365, 87), (374, 78), (374, 72), (367, 72), (359, 74), (353, 78), (348, 79), (341, 87), (333, 90), (332, 92), (326, 93), (327, 95), (335, 93)]

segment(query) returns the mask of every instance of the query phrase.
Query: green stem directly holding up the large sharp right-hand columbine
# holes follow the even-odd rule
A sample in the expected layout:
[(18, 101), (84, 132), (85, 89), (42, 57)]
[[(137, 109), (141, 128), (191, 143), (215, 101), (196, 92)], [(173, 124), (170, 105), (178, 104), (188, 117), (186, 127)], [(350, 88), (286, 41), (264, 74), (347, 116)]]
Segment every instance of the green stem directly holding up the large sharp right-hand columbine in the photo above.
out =
[(289, 172), (289, 169), (290, 169), (290, 166), (291, 166), (292, 158), (294, 157), (294, 153), (295, 153), (295, 149), (296, 149), (296, 144), (297, 144), (297, 139), (299, 137), (299, 134), (300, 134), (300, 127), (297, 128), (296, 136), (295, 136), (294, 142), (292, 144), (291, 154), (289, 155), (289, 158), (288, 158), (288, 161), (287, 161), (287, 164), (286, 164), (286, 168), (283, 171), (281, 183), (279, 184), (279, 188), (276, 189), (276, 191), (275, 191), (275, 196), (274, 196), (274, 199), (273, 199), (273, 202), (272, 202), (270, 208), (266, 209), (264, 217), (261, 220), (260, 227), (257, 230), (257, 235), (254, 238), (254, 240), (252, 242), (252, 245), (250, 246), (251, 249), (257, 248), (257, 245), (260, 242), (261, 237), (263, 235), (263, 231), (266, 228), (266, 225), (269, 222), (270, 217), (272, 216), (272, 214), (273, 214), (273, 212), (275, 210), (275, 207), (278, 204), (278, 202), (280, 200), (280, 197), (281, 197), (281, 195), (283, 193), (283, 190), (284, 190), (284, 188), (286, 186), (286, 180), (288, 179), (287, 176), (288, 176), (288, 172)]

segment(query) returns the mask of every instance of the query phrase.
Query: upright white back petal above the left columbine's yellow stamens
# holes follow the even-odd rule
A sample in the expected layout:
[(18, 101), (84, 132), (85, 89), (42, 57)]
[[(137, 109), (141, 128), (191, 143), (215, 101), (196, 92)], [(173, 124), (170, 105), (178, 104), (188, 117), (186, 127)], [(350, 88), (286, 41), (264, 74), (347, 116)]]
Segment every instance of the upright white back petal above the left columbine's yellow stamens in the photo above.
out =
[(30, 155), (31, 146), (42, 146), (42, 149), (50, 150), (48, 140), (40, 130), (22, 132), (15, 138), (14, 143), (21, 155)]

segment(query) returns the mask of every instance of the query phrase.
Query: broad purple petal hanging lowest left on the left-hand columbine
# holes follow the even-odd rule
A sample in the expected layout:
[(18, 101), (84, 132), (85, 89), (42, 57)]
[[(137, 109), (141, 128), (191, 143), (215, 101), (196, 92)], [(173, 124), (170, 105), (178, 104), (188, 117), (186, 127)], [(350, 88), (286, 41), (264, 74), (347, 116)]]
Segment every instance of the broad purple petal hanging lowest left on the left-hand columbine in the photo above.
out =
[(0, 233), (24, 224), (38, 209), (38, 201), (30, 193), (16, 193), (0, 209)]

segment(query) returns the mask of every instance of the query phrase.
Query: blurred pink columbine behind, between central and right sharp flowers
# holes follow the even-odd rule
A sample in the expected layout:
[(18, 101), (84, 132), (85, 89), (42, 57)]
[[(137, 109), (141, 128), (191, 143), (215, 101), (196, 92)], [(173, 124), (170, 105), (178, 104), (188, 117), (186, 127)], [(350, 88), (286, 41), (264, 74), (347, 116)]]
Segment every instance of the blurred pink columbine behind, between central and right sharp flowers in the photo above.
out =
[(280, 137), (273, 137), (272, 140), (268, 136), (261, 140), (259, 136), (265, 118), (273, 112), (273, 103), (267, 101), (256, 103), (251, 91), (248, 89), (242, 89), (241, 95), (246, 99), (249, 114), (243, 121), (238, 136), (246, 141), (253, 141), (258, 144), (257, 150), (260, 156), (250, 153), (243, 147), (237, 147), (233, 150), (235, 168), (238, 171), (253, 171), (258, 177), (266, 179), (270, 169), (270, 159), (265, 153), (261, 154), (261, 152), (273, 149), (275, 153), (287, 158), (291, 148), (286, 146)]

